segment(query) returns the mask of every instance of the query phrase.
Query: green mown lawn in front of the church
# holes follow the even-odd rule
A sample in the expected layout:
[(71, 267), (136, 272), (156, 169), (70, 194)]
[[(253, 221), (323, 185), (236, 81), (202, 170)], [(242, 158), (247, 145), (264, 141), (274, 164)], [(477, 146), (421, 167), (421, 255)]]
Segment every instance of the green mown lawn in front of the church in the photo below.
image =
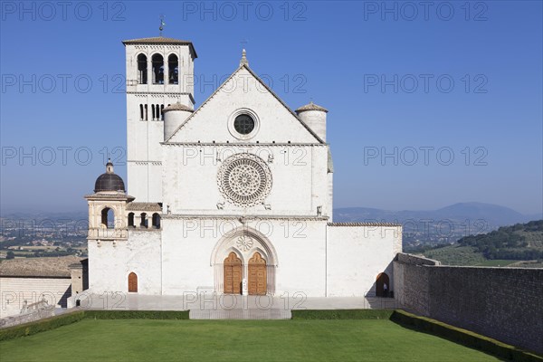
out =
[(7, 361), (497, 361), (386, 319), (84, 319), (0, 342)]

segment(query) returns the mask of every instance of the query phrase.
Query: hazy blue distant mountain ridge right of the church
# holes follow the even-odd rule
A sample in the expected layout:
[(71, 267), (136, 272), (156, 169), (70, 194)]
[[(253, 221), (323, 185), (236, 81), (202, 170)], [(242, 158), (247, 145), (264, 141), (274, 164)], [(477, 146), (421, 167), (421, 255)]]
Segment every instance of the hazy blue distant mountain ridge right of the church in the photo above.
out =
[(489, 227), (496, 228), (498, 226), (527, 223), (531, 220), (542, 219), (543, 214), (520, 214), (509, 207), (500, 205), (491, 205), (483, 203), (459, 203), (445, 206), (437, 210), (425, 211), (388, 211), (368, 207), (346, 207), (334, 210), (334, 221), (336, 222), (362, 222), (362, 221), (386, 221), (405, 222), (424, 220), (433, 220), (439, 222), (443, 220), (451, 220), (453, 222), (462, 223), (469, 220), (471, 223), (477, 220), (483, 220), (488, 223)]

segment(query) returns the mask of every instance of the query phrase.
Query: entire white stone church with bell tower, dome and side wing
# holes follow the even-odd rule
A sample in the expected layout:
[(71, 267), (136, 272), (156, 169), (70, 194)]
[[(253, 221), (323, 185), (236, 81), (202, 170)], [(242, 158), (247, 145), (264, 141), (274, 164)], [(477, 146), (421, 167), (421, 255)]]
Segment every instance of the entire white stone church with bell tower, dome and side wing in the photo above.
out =
[(386, 294), (401, 225), (333, 223), (328, 110), (291, 110), (244, 51), (195, 109), (193, 43), (123, 43), (128, 187), (110, 162), (85, 196), (90, 291)]

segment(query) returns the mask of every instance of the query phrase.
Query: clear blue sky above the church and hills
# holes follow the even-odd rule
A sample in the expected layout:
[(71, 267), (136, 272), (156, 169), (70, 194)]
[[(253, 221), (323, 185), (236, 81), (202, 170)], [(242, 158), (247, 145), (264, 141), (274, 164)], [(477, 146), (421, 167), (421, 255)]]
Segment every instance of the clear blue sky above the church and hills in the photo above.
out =
[(2, 2), (2, 212), (84, 210), (124, 161), (120, 42), (160, 14), (195, 44), (196, 106), (244, 47), (292, 109), (329, 109), (335, 207), (542, 211), (540, 1), (65, 4)]

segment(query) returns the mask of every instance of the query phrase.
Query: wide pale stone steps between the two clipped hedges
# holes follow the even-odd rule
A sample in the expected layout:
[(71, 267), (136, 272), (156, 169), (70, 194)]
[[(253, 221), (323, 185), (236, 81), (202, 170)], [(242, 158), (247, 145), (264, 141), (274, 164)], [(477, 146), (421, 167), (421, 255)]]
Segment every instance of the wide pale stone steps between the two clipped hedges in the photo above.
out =
[(189, 310), (189, 319), (291, 319), (291, 310)]

